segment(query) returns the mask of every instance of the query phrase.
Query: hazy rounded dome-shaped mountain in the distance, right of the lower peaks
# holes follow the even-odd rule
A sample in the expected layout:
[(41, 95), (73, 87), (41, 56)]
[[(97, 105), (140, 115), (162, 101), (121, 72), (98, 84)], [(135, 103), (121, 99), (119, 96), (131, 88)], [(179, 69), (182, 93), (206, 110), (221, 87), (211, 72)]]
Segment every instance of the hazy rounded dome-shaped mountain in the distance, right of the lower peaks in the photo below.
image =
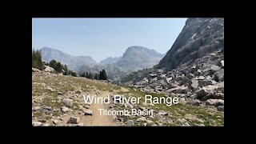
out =
[(162, 59), (162, 54), (142, 46), (130, 46), (116, 62), (123, 71), (134, 71), (150, 68)]

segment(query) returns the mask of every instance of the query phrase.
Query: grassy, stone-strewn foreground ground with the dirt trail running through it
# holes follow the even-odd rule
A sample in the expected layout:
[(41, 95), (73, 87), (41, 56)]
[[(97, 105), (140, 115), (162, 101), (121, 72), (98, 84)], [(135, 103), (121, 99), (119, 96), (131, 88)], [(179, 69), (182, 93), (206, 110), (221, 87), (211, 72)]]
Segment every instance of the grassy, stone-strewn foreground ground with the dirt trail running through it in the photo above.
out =
[[(48, 72), (46, 72), (48, 70)], [(180, 98), (179, 104), (85, 104), (83, 94), (120, 94), (124, 97), (172, 97), (170, 94), (151, 93), (137, 88), (125, 88), (106, 82), (64, 76), (33, 69), (32, 73), (32, 125), (33, 126), (223, 126), (224, 112), (200, 101), (191, 103)], [(102, 116), (98, 109), (154, 110), (150, 116)]]

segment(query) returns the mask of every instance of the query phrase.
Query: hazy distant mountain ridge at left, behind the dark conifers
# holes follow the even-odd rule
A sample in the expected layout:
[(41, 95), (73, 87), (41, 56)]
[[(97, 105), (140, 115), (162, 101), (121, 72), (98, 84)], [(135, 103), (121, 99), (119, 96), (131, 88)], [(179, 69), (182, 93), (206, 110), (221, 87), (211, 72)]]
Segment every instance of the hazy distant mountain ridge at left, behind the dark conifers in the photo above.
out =
[(96, 65), (97, 62), (90, 58), (90, 56), (78, 56), (74, 57), (70, 54), (63, 53), (60, 50), (55, 50), (48, 47), (43, 47), (41, 49), (42, 60), (45, 62), (50, 62), (51, 60), (56, 60), (68, 66), (71, 70), (77, 70), (80, 66), (93, 66)]

